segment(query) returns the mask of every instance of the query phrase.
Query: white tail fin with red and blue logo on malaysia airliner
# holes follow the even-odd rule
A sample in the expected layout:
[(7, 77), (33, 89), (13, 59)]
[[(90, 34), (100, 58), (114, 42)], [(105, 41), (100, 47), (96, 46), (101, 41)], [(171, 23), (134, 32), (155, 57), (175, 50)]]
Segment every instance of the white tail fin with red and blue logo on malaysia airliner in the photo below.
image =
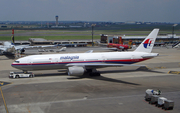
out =
[(148, 52), (151, 53), (154, 43), (156, 41), (157, 34), (159, 29), (154, 29), (144, 41), (137, 47), (134, 52)]

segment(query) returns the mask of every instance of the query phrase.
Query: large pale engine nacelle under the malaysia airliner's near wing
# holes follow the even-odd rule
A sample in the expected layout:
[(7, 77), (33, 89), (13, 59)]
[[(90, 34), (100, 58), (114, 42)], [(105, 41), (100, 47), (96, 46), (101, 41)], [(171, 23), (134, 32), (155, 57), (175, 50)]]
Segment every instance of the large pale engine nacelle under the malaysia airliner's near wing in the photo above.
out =
[(68, 75), (70, 76), (81, 76), (84, 74), (84, 68), (83, 67), (68, 67)]

